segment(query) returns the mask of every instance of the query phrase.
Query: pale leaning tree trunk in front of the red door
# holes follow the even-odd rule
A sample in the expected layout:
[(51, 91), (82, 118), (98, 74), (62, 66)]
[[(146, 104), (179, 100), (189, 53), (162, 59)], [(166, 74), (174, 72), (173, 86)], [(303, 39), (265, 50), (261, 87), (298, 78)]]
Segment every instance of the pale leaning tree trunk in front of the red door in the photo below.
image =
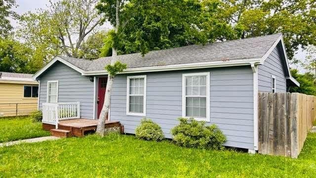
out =
[[(117, 0), (117, 6), (116, 6), (116, 27), (115, 27), (115, 32), (118, 33), (118, 27), (119, 27), (119, 18), (118, 18), (118, 11), (119, 11), (119, 5), (120, 5), (121, 0)], [(111, 65), (114, 64), (115, 60), (114, 57), (117, 56), (117, 50), (115, 47), (112, 47), (112, 58), (111, 58)], [(97, 126), (97, 131), (96, 133), (104, 136), (105, 134), (105, 119), (106, 116), (109, 115), (109, 110), (110, 110), (110, 103), (111, 103), (111, 89), (112, 85), (114, 83), (114, 77), (108, 74), (108, 82), (107, 82), (107, 87), (105, 90), (105, 96), (104, 96), (104, 104), (100, 113), (100, 118)]]

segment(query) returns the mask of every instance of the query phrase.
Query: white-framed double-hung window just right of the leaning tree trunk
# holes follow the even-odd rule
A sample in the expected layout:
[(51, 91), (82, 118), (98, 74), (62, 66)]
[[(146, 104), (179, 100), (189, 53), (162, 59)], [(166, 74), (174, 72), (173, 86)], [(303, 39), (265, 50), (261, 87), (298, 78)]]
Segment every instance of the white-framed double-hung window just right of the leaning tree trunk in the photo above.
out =
[(146, 116), (146, 76), (127, 77), (126, 114)]

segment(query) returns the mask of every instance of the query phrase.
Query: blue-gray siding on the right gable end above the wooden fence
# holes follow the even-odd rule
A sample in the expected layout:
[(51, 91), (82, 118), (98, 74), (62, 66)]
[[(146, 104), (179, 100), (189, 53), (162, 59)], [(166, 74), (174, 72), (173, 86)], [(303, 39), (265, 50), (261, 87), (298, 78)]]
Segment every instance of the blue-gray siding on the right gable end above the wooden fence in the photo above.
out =
[(280, 52), (277, 47), (263, 65), (258, 67), (258, 90), (271, 92), (271, 76), (276, 77), (276, 92), (286, 92), (286, 79)]

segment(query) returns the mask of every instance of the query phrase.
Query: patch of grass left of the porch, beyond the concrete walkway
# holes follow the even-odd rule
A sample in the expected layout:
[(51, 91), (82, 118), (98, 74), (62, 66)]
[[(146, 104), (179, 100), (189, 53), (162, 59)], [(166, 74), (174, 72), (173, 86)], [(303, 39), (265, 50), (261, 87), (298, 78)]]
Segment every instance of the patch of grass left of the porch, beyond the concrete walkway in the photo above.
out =
[(0, 143), (50, 135), (28, 117), (0, 118)]

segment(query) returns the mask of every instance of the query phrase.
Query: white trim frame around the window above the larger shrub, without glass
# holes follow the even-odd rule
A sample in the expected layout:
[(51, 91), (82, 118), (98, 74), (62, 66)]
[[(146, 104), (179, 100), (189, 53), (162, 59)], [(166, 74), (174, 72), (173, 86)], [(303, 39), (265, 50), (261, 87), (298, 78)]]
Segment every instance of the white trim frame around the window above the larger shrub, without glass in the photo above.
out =
[(182, 117), (186, 117), (186, 77), (188, 76), (201, 76), (206, 75), (206, 118), (194, 118), (197, 121), (210, 122), (210, 73), (201, 72), (201, 73), (189, 73), (182, 74)]

